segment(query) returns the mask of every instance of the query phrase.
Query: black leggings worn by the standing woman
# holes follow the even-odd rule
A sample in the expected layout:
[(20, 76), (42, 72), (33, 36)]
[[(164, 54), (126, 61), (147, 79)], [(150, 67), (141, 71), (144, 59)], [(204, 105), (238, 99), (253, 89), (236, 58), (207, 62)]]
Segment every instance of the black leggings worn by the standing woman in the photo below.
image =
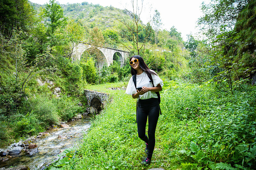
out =
[[(138, 135), (141, 140), (148, 144), (148, 158), (151, 159), (155, 148), (156, 124), (159, 117), (159, 104), (157, 98), (139, 100), (137, 110)], [(148, 119), (148, 137), (146, 124)]]

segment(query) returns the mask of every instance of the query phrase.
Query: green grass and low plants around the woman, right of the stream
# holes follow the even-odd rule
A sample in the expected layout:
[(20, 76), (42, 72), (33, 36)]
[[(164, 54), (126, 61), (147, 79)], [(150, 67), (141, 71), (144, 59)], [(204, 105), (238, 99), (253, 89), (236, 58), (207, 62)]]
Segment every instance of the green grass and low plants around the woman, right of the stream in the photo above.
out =
[(244, 85), (232, 96), (212, 85), (179, 81), (164, 84), (163, 115), (159, 117), (156, 146), (148, 167), (140, 165), (145, 145), (137, 135), (136, 100), (124, 91), (106, 90), (122, 85), (116, 83), (89, 87), (109, 92), (113, 100), (93, 118), (75, 156), (49, 169), (253, 169), (255, 87)]

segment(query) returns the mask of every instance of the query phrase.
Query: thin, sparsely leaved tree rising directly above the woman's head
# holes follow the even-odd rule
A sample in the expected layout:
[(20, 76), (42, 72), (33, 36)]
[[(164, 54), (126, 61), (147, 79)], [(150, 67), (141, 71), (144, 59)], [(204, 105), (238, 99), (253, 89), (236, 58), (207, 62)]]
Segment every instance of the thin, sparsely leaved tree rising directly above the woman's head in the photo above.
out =
[[(120, 35), (122, 35), (122, 37), (125, 37), (127, 39), (132, 39), (132, 41), (133, 41), (133, 49), (132, 50), (133, 51), (130, 50), (130, 48), (126, 47), (122, 42), (120, 42), (120, 43), (122, 43), (128, 50), (130, 50), (134, 54), (140, 55), (140, 51), (142, 50), (142, 53), (143, 53), (145, 50), (145, 43), (148, 41), (148, 37), (150, 36), (150, 34), (152, 32), (152, 28), (150, 26), (150, 21), (148, 22), (148, 24), (144, 25), (142, 23), (142, 21), (140, 20), (140, 15), (143, 10), (143, 1), (141, 1), (141, 4), (140, 4), (141, 7), (138, 5), (138, 0), (136, 0), (136, 1), (131, 0), (131, 2), (132, 2), (133, 11), (129, 11), (127, 9), (125, 9), (125, 10), (131, 16), (132, 22), (128, 22), (126, 20), (126, 18), (123, 18), (122, 20), (119, 20), (119, 21), (122, 24), (124, 24), (125, 29), (126, 29), (126, 31), (124, 31), (123, 33), (120, 33)], [(142, 41), (141, 45), (139, 44), (140, 33), (144, 34), (144, 40)]]

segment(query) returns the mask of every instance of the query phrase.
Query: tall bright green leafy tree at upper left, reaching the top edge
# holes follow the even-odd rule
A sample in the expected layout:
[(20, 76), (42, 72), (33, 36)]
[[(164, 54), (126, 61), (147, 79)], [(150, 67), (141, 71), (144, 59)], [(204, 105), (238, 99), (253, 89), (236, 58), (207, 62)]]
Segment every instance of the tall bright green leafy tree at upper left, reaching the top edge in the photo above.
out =
[(50, 48), (52, 50), (52, 47), (60, 42), (58, 41), (58, 34), (56, 34), (56, 31), (58, 28), (66, 25), (67, 18), (64, 17), (63, 9), (55, 2), (55, 0), (50, 0), (49, 4), (46, 3), (45, 6), (44, 16), (49, 17), (51, 20), (50, 23), (47, 23), (47, 36), (50, 39)]

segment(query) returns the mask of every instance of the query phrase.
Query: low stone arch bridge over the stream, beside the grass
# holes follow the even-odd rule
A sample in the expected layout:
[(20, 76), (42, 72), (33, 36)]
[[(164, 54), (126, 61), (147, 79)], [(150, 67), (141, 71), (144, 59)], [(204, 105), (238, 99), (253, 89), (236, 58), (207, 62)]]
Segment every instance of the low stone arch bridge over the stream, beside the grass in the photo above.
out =
[(96, 108), (98, 112), (102, 110), (102, 106), (110, 100), (109, 94), (92, 90), (84, 90), (84, 96), (87, 99), (87, 104), (90, 107)]

